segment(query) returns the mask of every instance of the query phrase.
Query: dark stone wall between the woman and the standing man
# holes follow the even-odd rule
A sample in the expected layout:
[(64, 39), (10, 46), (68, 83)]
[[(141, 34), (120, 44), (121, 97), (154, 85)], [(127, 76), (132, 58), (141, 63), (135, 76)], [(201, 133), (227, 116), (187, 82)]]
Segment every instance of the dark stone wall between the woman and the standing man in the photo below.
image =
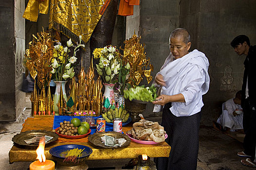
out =
[(256, 44), (255, 0), (181, 0), (180, 27), (189, 30), (193, 49), (209, 59), (210, 89), (203, 96), (202, 123), (211, 125), (221, 104), (241, 89), (243, 61), (230, 42), (239, 34)]

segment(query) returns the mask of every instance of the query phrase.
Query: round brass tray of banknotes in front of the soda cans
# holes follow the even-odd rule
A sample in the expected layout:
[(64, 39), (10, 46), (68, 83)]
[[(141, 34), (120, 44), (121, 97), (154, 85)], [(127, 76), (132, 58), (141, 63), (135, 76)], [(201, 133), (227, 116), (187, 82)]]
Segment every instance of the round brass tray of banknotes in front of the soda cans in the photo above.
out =
[(126, 139), (126, 143), (123, 144), (121, 147), (117, 147), (117, 148), (123, 148), (123, 147), (127, 147), (129, 144), (130, 144), (130, 138), (129, 136), (125, 135), (125, 134), (121, 134), (119, 132), (98, 132), (98, 133), (94, 133), (92, 135), (90, 135), (88, 137), (88, 140), (95, 146), (99, 146), (99, 147), (102, 147), (102, 148), (111, 148), (111, 149), (114, 149), (115, 147), (111, 147), (111, 146), (105, 146), (104, 143), (102, 143), (101, 141), (101, 137), (102, 136), (105, 136), (105, 135), (108, 135), (108, 136), (112, 136), (112, 137), (115, 137), (117, 139), (119, 138), (125, 138)]

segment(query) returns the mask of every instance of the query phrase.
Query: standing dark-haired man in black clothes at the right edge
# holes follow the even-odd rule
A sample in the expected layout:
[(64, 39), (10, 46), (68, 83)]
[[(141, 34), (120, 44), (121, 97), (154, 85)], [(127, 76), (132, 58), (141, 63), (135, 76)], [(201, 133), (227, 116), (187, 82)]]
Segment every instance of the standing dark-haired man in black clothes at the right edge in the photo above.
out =
[(251, 46), (246, 35), (238, 35), (231, 42), (231, 46), (238, 55), (246, 55), (241, 102), (244, 112), (244, 151), (238, 152), (238, 156), (248, 157), (241, 160), (243, 165), (256, 167), (256, 46)]

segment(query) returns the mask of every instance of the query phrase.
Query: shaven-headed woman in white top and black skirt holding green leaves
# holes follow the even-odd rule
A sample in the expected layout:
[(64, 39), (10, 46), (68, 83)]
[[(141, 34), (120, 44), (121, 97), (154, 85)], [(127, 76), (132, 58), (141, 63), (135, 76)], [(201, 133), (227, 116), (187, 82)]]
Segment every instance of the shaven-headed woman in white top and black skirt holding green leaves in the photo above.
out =
[[(169, 158), (156, 158), (157, 170), (196, 170), (199, 148), (202, 95), (209, 89), (209, 62), (191, 46), (187, 30), (178, 28), (170, 34), (170, 51), (174, 60), (165, 60), (155, 77), (161, 95), (153, 102), (154, 111), (164, 106), (162, 125), (169, 136)], [(168, 62), (168, 63), (166, 63)]]

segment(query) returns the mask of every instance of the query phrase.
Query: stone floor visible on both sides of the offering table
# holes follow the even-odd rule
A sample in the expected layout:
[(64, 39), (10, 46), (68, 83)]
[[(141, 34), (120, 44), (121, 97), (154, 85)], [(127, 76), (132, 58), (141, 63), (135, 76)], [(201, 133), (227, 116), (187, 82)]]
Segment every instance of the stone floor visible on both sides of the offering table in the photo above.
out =
[[(26, 103), (26, 109), (23, 110), (16, 121), (0, 122), (1, 169), (4, 167), (5, 170), (27, 170), (31, 163), (15, 162), (9, 164), (8, 160), (8, 153), (13, 145), (12, 137), (20, 132), (22, 123), (31, 113), (28, 96)], [(222, 134), (213, 129), (213, 127), (201, 126), (197, 170), (252, 170), (253, 168), (241, 165), (241, 158), (237, 156), (238, 151), (242, 151), (242, 143), (240, 141)]]

